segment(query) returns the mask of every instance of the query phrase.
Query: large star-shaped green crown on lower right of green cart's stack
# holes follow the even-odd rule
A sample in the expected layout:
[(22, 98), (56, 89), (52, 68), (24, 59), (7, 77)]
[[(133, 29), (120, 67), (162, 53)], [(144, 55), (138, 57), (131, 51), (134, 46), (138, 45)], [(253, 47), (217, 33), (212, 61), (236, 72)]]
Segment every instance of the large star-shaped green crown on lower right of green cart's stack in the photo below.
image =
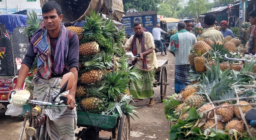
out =
[(108, 94), (109, 98), (116, 98), (120, 97), (121, 94), (125, 94), (129, 79), (122, 77), (121, 73), (115, 71), (104, 75), (106, 81), (105, 92)]

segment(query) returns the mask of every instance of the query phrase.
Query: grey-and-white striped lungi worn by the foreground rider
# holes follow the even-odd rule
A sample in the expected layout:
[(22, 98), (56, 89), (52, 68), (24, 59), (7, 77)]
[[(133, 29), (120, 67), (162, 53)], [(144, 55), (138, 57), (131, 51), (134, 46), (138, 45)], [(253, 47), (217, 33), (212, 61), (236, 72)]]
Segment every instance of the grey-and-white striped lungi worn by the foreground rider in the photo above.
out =
[[(33, 98), (38, 101), (52, 102), (60, 91), (61, 78), (43, 79), (34, 76), (31, 85), (34, 86)], [(61, 95), (67, 95), (69, 91)], [(59, 102), (60, 98), (56, 98)], [(64, 105), (64, 104), (63, 104)], [(39, 140), (75, 140), (75, 129), (77, 126), (76, 107), (73, 110), (67, 107), (42, 106), (42, 114), (47, 114), (45, 123), (41, 126)], [(48, 132), (48, 133), (45, 133)]]

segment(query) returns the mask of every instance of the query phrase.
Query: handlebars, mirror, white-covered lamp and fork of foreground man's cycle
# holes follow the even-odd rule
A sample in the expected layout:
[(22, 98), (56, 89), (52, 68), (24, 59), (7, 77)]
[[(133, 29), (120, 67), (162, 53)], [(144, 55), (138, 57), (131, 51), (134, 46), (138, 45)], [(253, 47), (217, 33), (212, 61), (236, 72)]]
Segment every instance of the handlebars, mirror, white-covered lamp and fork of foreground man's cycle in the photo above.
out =
[[(69, 72), (62, 77), (61, 89), (59, 94), (52, 98), (52, 102), (43, 102), (37, 100), (30, 100), (30, 93), (28, 90), (19, 90), (11, 92), (11, 98), (8, 99), (10, 103), (13, 103), (15, 106), (23, 106), (24, 104), (28, 104), (32, 106), (31, 113), (29, 111), (25, 112), (24, 122), (22, 125), (22, 129), (20, 131), (19, 140), (22, 140), (22, 135), (25, 130), (26, 140), (37, 140), (40, 134), (40, 127), (46, 121), (47, 115), (41, 114), (40, 106), (55, 106), (55, 107), (70, 107), (70, 105), (62, 105), (67, 102), (67, 97), (65, 95), (60, 95), (67, 90), (70, 90), (74, 83), (74, 75), (72, 72)], [(55, 102), (56, 98), (60, 95), (60, 101)], [(12, 100), (12, 101), (11, 101)], [(29, 119), (29, 126), (25, 129), (26, 120)]]

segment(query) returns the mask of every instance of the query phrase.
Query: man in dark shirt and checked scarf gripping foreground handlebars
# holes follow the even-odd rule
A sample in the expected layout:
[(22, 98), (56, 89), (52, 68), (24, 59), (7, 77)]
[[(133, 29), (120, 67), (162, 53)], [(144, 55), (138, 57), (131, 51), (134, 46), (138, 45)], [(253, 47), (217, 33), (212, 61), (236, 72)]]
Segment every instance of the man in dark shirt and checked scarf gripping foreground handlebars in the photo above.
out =
[[(22, 87), (35, 57), (38, 59), (37, 73), (31, 85), (34, 86), (33, 98), (38, 101), (51, 102), (52, 98), (59, 93), (61, 77), (72, 72), (75, 76), (73, 87), (62, 94), (67, 96), (66, 104), (70, 104), (70, 107), (42, 107), (41, 115), (47, 116), (47, 119), (40, 128), (39, 140), (49, 138), (75, 140), (77, 125), (75, 91), (79, 70), (79, 40), (77, 34), (67, 30), (61, 23), (62, 14), (59, 4), (54, 1), (46, 2), (42, 7), (42, 14), (43, 22), (31, 38), (28, 52), (19, 70), (17, 85), (13, 90), (16, 91)], [(60, 101), (59, 97), (56, 99), (56, 102), (58, 101)]]

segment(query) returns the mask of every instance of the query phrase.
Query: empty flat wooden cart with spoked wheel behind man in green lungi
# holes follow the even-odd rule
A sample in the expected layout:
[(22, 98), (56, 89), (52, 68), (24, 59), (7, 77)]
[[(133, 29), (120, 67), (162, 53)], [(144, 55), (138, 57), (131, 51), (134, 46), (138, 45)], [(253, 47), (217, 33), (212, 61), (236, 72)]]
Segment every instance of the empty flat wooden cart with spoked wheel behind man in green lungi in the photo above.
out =
[[(153, 83), (154, 87), (161, 86), (160, 87), (160, 95), (161, 95), (161, 101), (163, 102), (163, 99), (166, 97), (166, 87), (169, 85), (167, 83), (167, 71), (165, 64), (168, 64), (168, 60), (158, 60), (158, 68), (156, 69), (155, 73), (155, 80), (156, 82)], [(161, 75), (160, 75), (161, 74)]]

